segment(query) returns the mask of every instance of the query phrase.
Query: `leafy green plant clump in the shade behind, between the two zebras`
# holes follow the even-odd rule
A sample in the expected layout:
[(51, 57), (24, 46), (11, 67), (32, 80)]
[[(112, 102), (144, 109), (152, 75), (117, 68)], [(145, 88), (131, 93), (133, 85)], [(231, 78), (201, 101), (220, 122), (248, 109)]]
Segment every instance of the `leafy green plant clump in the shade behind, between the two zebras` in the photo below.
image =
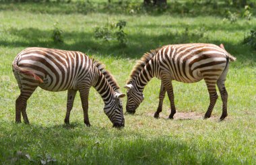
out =
[(119, 44), (125, 44), (127, 34), (123, 31), (126, 21), (119, 21), (116, 25), (113, 23), (106, 23), (104, 27), (96, 27), (94, 30), (94, 38), (102, 39), (106, 42), (110, 40), (117, 40)]

